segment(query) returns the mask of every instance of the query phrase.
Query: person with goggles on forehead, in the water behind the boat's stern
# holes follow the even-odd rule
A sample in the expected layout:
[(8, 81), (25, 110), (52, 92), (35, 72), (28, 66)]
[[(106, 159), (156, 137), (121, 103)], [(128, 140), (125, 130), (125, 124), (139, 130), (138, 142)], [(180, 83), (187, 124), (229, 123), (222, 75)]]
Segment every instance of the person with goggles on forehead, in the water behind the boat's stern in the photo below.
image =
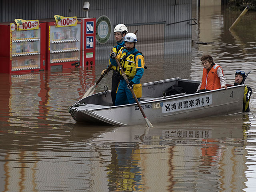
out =
[[(245, 81), (245, 72), (237, 70), (235, 74), (234, 85), (242, 85)], [(243, 101), (243, 112), (250, 112), (249, 102), (252, 95), (252, 88), (244, 86), (244, 101)]]

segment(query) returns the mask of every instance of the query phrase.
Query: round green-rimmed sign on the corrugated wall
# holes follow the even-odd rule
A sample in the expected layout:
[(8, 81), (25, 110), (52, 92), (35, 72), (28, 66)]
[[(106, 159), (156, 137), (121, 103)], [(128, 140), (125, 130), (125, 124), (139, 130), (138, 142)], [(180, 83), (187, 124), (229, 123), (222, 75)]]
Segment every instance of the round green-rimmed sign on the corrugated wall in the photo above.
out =
[(100, 44), (108, 42), (111, 34), (111, 22), (105, 15), (96, 20), (96, 40)]

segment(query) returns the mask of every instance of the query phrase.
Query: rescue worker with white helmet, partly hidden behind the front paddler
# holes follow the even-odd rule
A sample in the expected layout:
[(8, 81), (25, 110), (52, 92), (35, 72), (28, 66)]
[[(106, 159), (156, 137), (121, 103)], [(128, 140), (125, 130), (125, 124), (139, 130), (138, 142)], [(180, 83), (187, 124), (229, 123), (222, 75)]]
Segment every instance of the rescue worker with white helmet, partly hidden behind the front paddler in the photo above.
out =
[[(114, 36), (116, 39), (116, 46), (113, 47), (113, 51), (115, 53), (120, 52), (120, 50), (124, 47), (124, 36), (128, 33), (128, 29), (124, 24), (118, 24), (114, 28)], [(110, 60), (109, 60), (109, 65), (110, 65)], [(115, 100), (116, 100), (116, 90), (118, 87), (118, 83), (120, 82), (121, 75), (118, 73), (118, 70), (116, 66), (111, 67), (113, 74), (112, 74), (112, 85), (111, 85), (111, 98), (113, 102), (113, 106), (115, 105)], [(101, 75), (105, 74), (106, 69), (104, 69), (101, 72)]]

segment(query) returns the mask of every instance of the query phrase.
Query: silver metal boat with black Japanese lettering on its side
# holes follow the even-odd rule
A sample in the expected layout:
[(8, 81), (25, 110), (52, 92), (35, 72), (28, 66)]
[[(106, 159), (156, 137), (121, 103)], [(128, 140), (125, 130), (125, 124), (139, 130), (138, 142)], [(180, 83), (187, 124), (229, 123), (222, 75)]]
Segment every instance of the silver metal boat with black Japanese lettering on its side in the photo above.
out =
[[(166, 87), (173, 83), (177, 84), (177, 82), (179, 82), (178, 84), (186, 82), (189, 84), (191, 80), (182, 81), (178, 78), (178, 80), (164, 80), (164, 83), (152, 82), (144, 84), (143, 89), (151, 90), (152, 92), (152, 90), (158, 90), (159, 84), (163, 89), (166, 89)], [(166, 84), (166, 87), (163, 86), (164, 84)], [(219, 89), (170, 98), (155, 98), (154, 100), (154, 97), (151, 97), (151, 99), (142, 100), (140, 104), (148, 120), (154, 124), (190, 118), (242, 113), (243, 93), (244, 86), (232, 86), (227, 90)], [(144, 95), (146, 94), (147, 92), (144, 91)], [(104, 106), (86, 103), (84, 106), (76, 107), (76, 110), (75, 107), (71, 107), (70, 110), (72, 110), (70, 112), (72, 117), (77, 122), (111, 125), (136, 125), (145, 123), (137, 104)]]

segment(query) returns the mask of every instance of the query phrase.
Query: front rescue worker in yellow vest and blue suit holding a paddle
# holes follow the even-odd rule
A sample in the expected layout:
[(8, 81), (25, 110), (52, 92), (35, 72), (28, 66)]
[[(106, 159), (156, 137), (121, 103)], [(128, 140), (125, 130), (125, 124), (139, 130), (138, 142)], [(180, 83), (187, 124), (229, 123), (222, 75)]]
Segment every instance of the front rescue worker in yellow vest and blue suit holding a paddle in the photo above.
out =
[[(120, 62), (124, 73), (126, 74), (129, 84), (126, 83), (122, 77), (118, 85), (115, 105), (124, 105), (136, 103), (130, 89), (134, 90), (136, 97), (140, 100), (142, 95), (142, 88), (140, 79), (144, 73), (144, 57), (141, 52), (135, 48), (137, 37), (134, 33), (128, 33), (124, 37), (125, 49), (122, 50), (118, 55), (115, 52), (111, 53), (110, 62), (112, 65), (117, 66), (115, 57)], [(119, 69), (119, 72), (120, 69)]]

